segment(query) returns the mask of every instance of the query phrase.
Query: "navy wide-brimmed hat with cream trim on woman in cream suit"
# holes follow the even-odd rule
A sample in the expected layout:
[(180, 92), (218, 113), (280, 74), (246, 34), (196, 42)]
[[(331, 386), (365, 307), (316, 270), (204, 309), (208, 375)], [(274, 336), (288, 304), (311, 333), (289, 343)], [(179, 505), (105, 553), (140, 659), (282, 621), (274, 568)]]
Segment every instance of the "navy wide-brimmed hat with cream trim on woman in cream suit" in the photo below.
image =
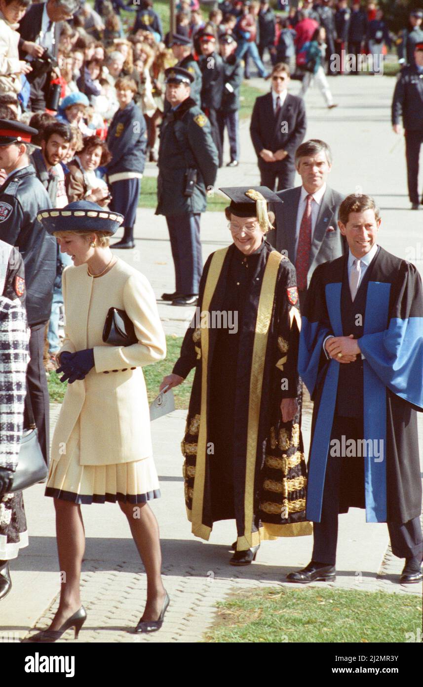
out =
[(91, 201), (75, 201), (64, 207), (41, 210), (38, 222), (48, 234), (54, 232), (104, 232), (115, 234), (123, 222), (123, 215), (110, 212)]

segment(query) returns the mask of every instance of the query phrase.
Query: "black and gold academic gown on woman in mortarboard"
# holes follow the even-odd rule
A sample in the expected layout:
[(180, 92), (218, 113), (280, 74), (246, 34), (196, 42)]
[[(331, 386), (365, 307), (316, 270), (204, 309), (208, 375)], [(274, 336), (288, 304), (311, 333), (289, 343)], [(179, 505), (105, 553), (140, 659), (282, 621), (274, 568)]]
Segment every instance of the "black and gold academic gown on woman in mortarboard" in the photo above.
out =
[(182, 453), (197, 537), (224, 519), (237, 523), (237, 550), (311, 534), (300, 411), (290, 423), (280, 414), (282, 398), (298, 395), (299, 324), (295, 269), (268, 243), (208, 258), (173, 368), (186, 377), (195, 367)]

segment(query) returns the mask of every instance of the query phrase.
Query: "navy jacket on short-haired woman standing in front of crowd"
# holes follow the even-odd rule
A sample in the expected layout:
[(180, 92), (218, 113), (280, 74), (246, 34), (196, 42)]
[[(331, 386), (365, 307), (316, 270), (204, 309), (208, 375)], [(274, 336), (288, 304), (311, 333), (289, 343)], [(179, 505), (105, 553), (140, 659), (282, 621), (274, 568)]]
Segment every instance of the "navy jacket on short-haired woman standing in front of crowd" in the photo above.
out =
[(125, 109), (114, 113), (106, 142), (113, 156), (106, 166), (109, 176), (120, 172), (143, 173), (147, 125), (143, 113), (133, 100)]

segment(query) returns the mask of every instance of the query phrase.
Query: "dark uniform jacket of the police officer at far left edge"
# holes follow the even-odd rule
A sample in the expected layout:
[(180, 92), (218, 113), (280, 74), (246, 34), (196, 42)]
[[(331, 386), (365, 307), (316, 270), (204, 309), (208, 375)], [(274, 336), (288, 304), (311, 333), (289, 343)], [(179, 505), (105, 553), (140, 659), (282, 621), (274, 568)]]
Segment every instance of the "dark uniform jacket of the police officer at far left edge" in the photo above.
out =
[(32, 165), (14, 172), (0, 189), (0, 239), (16, 246), (25, 263), (28, 324), (50, 317), (56, 278), (56, 239), (36, 216), (51, 207), (49, 195)]

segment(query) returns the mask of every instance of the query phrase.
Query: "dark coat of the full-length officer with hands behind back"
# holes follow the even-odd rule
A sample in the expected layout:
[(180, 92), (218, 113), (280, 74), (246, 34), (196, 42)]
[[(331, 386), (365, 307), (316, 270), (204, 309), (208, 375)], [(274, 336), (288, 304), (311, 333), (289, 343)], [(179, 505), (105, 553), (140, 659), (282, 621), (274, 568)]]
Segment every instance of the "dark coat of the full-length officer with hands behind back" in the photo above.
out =
[[(206, 210), (206, 189), (217, 174), (217, 150), (210, 123), (192, 98), (171, 110), (162, 123), (158, 149), (156, 214), (176, 215)], [(185, 172), (197, 170), (192, 196), (184, 196)]]

